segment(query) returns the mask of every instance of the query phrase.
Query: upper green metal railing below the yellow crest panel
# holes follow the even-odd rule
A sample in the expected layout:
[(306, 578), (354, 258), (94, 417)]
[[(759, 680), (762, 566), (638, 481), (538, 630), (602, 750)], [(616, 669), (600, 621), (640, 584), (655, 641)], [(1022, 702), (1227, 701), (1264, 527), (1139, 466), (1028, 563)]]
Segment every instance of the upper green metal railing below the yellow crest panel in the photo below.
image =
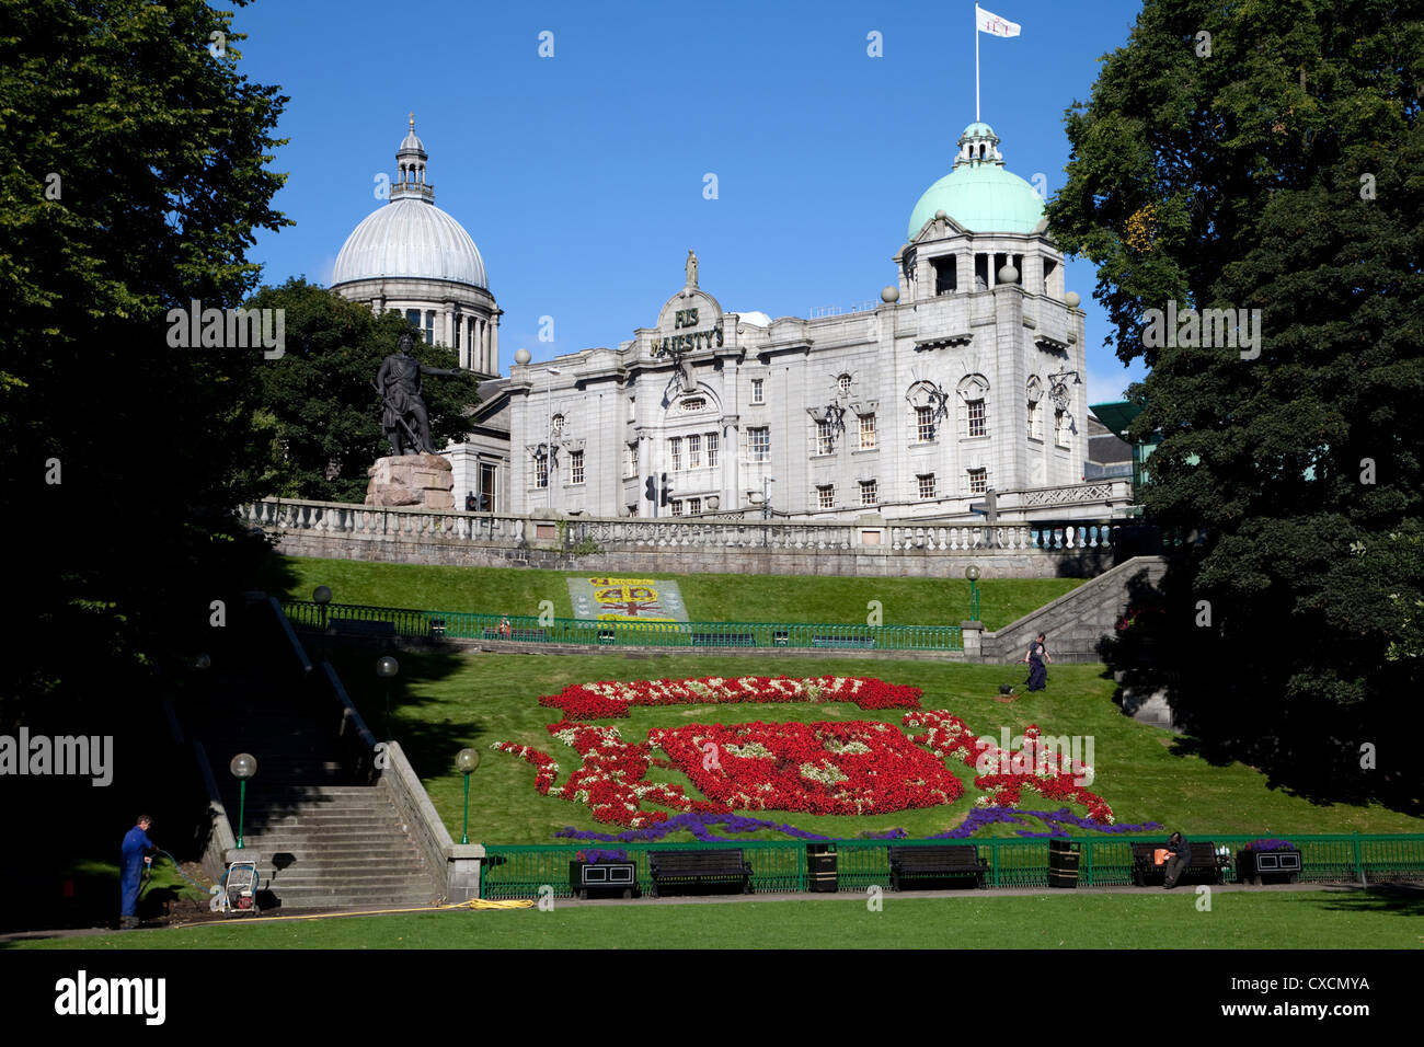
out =
[[(708, 648), (820, 648), (866, 651), (963, 651), (958, 625), (816, 625), (762, 621), (588, 621), (531, 615), (417, 611), (402, 607), (326, 604), (283, 600), (293, 625), (352, 627), (347, 623), (389, 624), (397, 637), (507, 640), (531, 644), (585, 647), (708, 647)], [(357, 627), (359, 628), (359, 627)]]

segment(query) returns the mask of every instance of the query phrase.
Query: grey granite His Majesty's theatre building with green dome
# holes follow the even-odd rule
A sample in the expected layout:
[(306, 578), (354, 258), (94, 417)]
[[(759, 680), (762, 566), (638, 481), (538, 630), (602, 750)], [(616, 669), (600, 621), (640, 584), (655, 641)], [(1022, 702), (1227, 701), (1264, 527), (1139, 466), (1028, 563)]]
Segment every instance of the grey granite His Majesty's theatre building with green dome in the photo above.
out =
[(907, 236), (873, 309), (728, 311), (689, 252), (617, 349), (518, 353), (510, 511), (967, 519), (993, 489), (1005, 520), (1114, 514), (1125, 486), (1084, 483), (1079, 299), (987, 124), (964, 130)]

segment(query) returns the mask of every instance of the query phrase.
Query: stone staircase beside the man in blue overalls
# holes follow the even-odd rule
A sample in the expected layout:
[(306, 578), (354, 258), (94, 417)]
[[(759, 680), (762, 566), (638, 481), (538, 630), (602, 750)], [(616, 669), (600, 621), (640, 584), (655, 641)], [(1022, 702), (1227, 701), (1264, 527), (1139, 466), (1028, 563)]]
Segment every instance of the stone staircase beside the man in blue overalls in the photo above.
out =
[(335, 718), (303, 712), (290, 682), (271, 684), (229, 678), (188, 718), (235, 832), (238, 781), (228, 761), (238, 752), (258, 761), (242, 819), (242, 842), (259, 856), (258, 905), (276, 912), (430, 905), (440, 890), (387, 786), (353, 782), (339, 759)]

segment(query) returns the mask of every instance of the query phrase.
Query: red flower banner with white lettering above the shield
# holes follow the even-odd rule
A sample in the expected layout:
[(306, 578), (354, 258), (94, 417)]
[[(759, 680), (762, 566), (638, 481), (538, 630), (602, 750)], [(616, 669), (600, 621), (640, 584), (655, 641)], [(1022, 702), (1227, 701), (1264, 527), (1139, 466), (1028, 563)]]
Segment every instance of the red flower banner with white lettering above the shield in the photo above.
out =
[(705, 705), (725, 702), (854, 702), (862, 709), (917, 709), (920, 688), (871, 677), (703, 677), (572, 684), (547, 694), (540, 705), (564, 711), (565, 719), (614, 719), (634, 705)]

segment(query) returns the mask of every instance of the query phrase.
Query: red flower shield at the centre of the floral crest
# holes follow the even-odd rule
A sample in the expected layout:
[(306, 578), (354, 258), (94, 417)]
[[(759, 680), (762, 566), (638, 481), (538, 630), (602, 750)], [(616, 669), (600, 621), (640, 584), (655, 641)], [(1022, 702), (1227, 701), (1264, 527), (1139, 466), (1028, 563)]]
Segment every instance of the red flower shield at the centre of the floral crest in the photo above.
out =
[(883, 815), (964, 792), (890, 724), (693, 724), (649, 731), (648, 741), (728, 811)]

